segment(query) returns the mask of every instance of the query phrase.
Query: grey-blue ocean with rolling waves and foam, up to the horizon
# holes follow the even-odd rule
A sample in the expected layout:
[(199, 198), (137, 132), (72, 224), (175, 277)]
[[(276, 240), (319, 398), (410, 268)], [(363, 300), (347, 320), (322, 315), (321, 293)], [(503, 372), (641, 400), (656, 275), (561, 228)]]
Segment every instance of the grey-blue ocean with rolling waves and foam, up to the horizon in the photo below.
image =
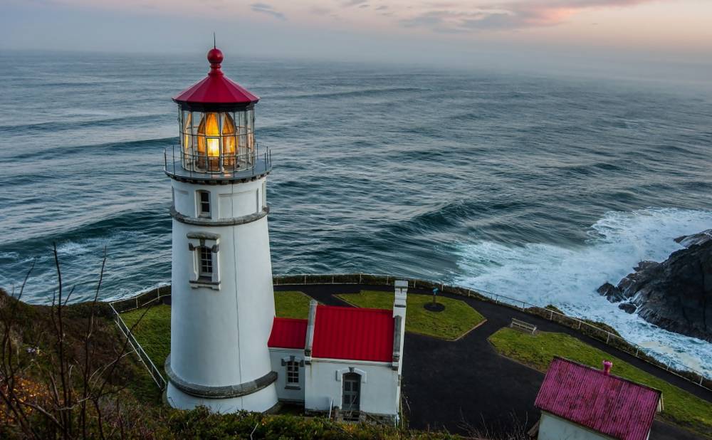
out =
[[(712, 344), (598, 295), (712, 227), (712, 93), (626, 78), (239, 59), (271, 148), (273, 272), (456, 283), (605, 322), (712, 374)], [(0, 286), (170, 280), (170, 98), (202, 56), (0, 52)]]

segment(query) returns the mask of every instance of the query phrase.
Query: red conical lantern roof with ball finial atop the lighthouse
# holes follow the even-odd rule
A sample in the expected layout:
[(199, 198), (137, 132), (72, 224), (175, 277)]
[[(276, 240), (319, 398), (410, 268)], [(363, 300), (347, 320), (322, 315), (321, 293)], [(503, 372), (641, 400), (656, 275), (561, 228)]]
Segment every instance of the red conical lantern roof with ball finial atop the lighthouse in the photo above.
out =
[(210, 61), (210, 72), (206, 78), (179, 93), (173, 98), (176, 103), (199, 106), (209, 104), (241, 106), (254, 104), (260, 100), (258, 96), (225, 76), (220, 69), (223, 54), (219, 48), (211, 48), (207, 58)]

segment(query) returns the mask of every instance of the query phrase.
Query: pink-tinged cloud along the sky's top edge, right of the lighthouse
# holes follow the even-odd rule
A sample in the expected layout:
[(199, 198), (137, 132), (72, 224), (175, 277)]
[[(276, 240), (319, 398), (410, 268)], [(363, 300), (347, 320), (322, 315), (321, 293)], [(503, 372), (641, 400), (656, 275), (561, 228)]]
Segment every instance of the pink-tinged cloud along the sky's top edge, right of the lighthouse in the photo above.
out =
[(401, 26), (426, 27), (436, 32), (515, 30), (556, 26), (585, 9), (627, 7), (654, 0), (517, 0), (486, 4), (463, 11), (458, 4), (434, 4), (441, 8), (424, 11), (399, 21)]

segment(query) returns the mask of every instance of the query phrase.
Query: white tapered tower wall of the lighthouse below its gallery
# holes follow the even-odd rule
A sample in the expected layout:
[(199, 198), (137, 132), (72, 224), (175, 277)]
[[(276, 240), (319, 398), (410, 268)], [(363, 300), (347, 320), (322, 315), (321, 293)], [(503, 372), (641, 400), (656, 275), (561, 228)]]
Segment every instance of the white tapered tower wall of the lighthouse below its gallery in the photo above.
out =
[[(277, 403), (267, 347), (275, 312), (266, 179), (172, 184), (169, 403), (266, 411)], [(199, 191), (209, 193), (209, 216), (199, 215)], [(210, 281), (199, 278), (197, 246), (213, 248)]]

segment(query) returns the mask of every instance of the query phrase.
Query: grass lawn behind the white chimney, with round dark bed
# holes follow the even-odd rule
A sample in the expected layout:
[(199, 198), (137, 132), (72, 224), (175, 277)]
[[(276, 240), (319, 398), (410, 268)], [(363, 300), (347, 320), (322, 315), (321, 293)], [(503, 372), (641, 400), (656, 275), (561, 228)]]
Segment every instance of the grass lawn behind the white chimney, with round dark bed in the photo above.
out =
[[(392, 310), (393, 295), (393, 292), (361, 290), (360, 293), (342, 293), (336, 296), (357, 307)], [(405, 316), (406, 331), (446, 340), (456, 340), (485, 320), (477, 310), (471, 308), (464, 301), (442, 296), (438, 297), (438, 303), (444, 304), (445, 310), (439, 313), (429, 312), (423, 308), (423, 305), (432, 299), (431, 295), (414, 293), (408, 295)]]

